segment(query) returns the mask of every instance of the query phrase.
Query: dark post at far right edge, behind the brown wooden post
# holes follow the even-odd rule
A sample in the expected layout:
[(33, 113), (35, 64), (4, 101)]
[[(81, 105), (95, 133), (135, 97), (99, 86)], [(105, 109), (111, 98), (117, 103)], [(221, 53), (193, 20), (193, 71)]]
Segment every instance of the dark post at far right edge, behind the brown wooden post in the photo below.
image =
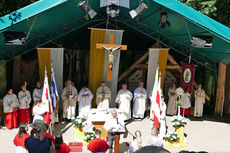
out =
[(225, 94), (224, 94), (224, 115), (227, 114), (229, 109), (229, 95), (230, 95), (230, 66), (227, 66)]

